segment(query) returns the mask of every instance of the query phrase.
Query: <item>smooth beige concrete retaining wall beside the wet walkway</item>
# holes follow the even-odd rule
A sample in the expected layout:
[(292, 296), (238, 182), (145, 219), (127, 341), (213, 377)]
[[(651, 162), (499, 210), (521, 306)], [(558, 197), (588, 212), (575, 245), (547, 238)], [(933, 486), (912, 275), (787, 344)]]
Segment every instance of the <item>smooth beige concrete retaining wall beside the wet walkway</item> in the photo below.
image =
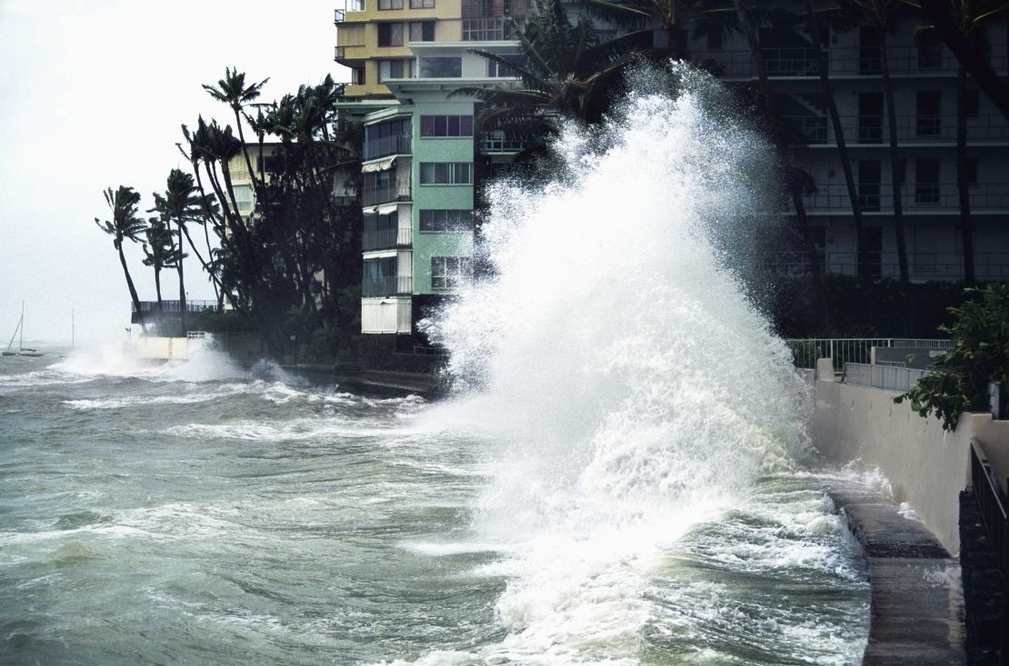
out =
[[(829, 376), (819, 376), (827, 380), (815, 382), (812, 439), (823, 458), (879, 467), (894, 500), (908, 503), (958, 555), (960, 493), (969, 483), (970, 440), (981, 442), (993, 467), (1009, 470), (1009, 421), (965, 414), (957, 430), (946, 432), (938, 419), (919, 417), (907, 401), (895, 405), (895, 392), (835, 382), (832, 368)], [(1005, 476), (1000, 474), (1002, 482)]]

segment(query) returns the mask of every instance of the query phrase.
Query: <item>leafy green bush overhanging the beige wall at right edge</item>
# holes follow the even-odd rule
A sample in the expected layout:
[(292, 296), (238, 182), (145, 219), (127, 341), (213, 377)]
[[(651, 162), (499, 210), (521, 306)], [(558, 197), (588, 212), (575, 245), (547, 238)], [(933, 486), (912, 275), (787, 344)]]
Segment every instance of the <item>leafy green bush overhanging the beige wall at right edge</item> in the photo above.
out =
[(1009, 285), (989, 285), (968, 289), (971, 299), (960, 308), (950, 308), (952, 347), (939, 356), (933, 370), (921, 377), (902, 396), (921, 416), (934, 412), (942, 428), (955, 430), (964, 412), (987, 412), (988, 386), (1009, 378)]

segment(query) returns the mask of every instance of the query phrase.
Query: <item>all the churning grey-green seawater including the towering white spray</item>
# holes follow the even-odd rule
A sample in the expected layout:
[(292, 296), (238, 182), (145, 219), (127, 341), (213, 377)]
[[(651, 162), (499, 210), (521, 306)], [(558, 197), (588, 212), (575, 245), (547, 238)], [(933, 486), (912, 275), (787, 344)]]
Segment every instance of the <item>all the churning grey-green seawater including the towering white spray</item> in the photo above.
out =
[(855, 664), (857, 546), (731, 257), (766, 153), (641, 75), (500, 184), (453, 400), (207, 352), (0, 364), (0, 662)]

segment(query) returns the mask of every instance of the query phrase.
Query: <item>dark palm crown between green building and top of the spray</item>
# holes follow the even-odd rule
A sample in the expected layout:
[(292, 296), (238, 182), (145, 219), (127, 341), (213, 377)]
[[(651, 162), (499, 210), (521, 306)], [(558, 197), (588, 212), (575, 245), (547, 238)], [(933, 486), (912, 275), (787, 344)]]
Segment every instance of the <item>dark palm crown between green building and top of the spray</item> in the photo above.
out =
[(634, 62), (639, 34), (600, 41), (584, 16), (568, 19), (561, 0), (534, 0), (537, 10), (517, 29), (521, 62), (485, 50), (473, 52), (497, 64), (520, 79), (490, 88), (459, 88), (486, 103), (480, 124), (515, 135), (556, 130), (563, 116), (596, 122), (605, 112), (614, 84)]

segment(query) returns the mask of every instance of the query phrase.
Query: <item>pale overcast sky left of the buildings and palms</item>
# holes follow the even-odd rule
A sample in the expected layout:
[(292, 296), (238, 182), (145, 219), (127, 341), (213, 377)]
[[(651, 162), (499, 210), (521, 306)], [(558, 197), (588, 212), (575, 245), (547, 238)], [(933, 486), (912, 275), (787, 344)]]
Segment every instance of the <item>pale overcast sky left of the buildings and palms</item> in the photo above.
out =
[[(335, 0), (339, 2), (339, 0)], [(102, 192), (140, 192), (144, 211), (169, 172), (188, 171), (176, 142), (199, 114), (233, 124), (201, 84), (226, 67), (246, 81), (269, 77), (263, 101), (346, 81), (333, 63), (334, 0), (0, 0), (0, 347), (25, 301), (25, 340), (118, 342), (129, 292), (94, 218)], [(154, 300), (138, 244), (126, 258), (141, 300)], [(195, 257), (191, 299), (213, 299)], [(178, 299), (174, 271), (165, 299)], [(16, 342), (15, 342), (16, 344)]]

